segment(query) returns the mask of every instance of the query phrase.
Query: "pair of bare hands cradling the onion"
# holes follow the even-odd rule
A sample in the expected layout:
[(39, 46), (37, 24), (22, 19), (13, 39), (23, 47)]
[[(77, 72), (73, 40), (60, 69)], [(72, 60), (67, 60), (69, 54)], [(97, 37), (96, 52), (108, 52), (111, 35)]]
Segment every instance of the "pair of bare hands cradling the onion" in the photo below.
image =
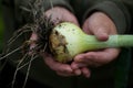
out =
[[(60, 21), (69, 21), (79, 25), (79, 22), (74, 14), (69, 10), (61, 7), (55, 7), (48, 10), (44, 13), (54, 24)], [(92, 13), (83, 23), (82, 29), (88, 34), (93, 34), (99, 41), (106, 41), (110, 34), (116, 34), (116, 28), (113, 21), (102, 12)], [(32, 34), (31, 37), (33, 37)], [(37, 40), (35, 36), (33, 40)], [(32, 45), (31, 45), (32, 46)], [(55, 62), (54, 58), (47, 53), (41, 54), (44, 63), (54, 70), (60, 76), (79, 76), (83, 75), (85, 77), (91, 76), (91, 70), (89, 67), (99, 67), (114, 61), (119, 56), (119, 48), (105, 48), (95, 52), (86, 52), (79, 54), (73, 58), (71, 64), (62, 64)]]

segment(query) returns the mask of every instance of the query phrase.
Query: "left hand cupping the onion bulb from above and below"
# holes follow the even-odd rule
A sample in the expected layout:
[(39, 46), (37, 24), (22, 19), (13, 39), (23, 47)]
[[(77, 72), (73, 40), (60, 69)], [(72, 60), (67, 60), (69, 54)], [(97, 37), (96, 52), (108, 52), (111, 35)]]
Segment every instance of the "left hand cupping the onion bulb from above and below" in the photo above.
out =
[[(54, 24), (58, 24), (62, 21), (69, 21), (69, 22), (73, 22), (76, 25), (79, 25), (75, 16), (68, 11), (66, 9), (60, 8), (60, 7), (55, 7), (53, 9), (48, 10), (45, 13), (47, 18), (50, 18), (52, 22), (54, 22)], [(54, 61), (54, 58), (50, 55), (50, 54), (41, 54), (43, 56), (43, 59), (45, 62), (45, 64), (52, 69), (55, 70), (55, 73), (58, 75), (61, 76), (76, 76), (81, 74), (80, 69), (75, 69), (73, 70), (71, 68), (70, 64), (62, 64), (59, 63), (57, 61)]]

